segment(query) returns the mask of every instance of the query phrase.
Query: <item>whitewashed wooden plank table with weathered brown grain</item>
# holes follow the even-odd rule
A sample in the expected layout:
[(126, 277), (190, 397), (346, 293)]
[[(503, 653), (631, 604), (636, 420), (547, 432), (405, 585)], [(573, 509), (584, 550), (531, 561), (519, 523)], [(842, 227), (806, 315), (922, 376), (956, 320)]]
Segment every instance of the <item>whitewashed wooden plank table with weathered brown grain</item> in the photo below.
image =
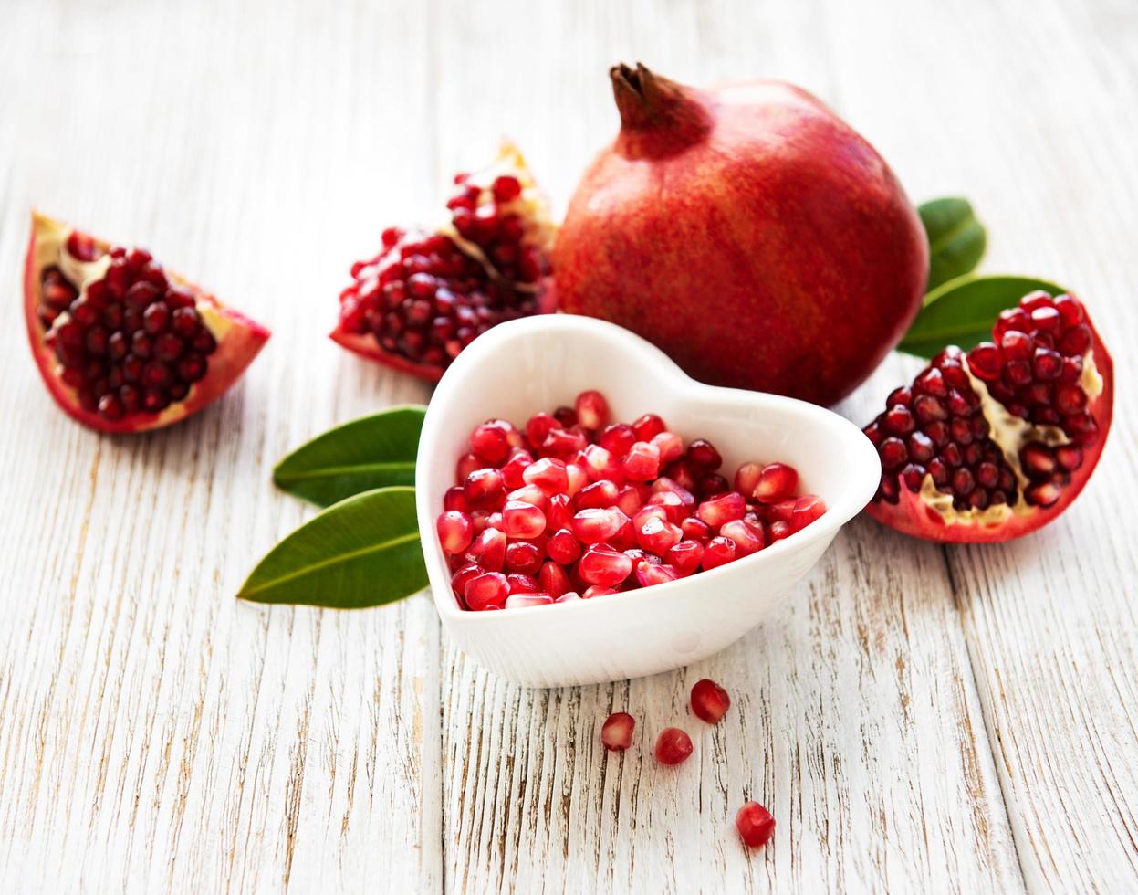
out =
[[(1138, 886), (1138, 8), (8, 0), (0, 27), (0, 889), (1123, 892)], [(560, 210), (616, 128), (607, 68), (781, 76), (963, 194), (986, 269), (1070, 284), (1114, 347), (1099, 473), (1017, 543), (858, 519), (783, 611), (674, 674), (528, 691), (424, 596), (233, 594), (311, 515), (289, 449), (429, 389), (323, 338), (381, 227), (508, 132)], [(190, 421), (99, 437), (28, 356), (31, 206), (155, 249), (274, 330)], [(894, 356), (839, 408), (865, 421)], [(678, 772), (641, 731), (711, 676)], [(686, 721), (685, 721), (686, 723)], [(698, 725), (698, 724), (696, 724)], [(748, 854), (747, 797), (778, 820)]]

